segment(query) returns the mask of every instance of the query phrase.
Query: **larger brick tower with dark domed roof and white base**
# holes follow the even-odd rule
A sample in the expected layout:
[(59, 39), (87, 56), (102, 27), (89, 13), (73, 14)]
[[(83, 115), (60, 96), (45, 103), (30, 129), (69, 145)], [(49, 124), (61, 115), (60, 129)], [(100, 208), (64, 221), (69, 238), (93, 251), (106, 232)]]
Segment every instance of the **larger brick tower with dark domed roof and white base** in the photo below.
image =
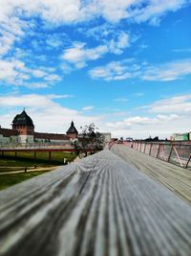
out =
[(20, 143), (33, 142), (34, 126), (32, 118), (26, 113), (25, 109), (21, 114), (14, 117), (12, 121), (12, 129), (18, 131)]

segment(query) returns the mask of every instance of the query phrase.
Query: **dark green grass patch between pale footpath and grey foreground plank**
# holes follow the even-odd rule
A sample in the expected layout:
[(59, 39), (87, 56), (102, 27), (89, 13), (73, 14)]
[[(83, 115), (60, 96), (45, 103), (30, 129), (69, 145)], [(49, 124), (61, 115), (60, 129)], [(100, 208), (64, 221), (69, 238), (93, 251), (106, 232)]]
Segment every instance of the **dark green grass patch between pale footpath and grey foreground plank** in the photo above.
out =
[(32, 173), (22, 173), (22, 174), (14, 174), (14, 175), (0, 175), (0, 190), (6, 189), (12, 185), (25, 181), (29, 178), (32, 178), (36, 175), (42, 175), (47, 173), (47, 171), (43, 172), (32, 172)]

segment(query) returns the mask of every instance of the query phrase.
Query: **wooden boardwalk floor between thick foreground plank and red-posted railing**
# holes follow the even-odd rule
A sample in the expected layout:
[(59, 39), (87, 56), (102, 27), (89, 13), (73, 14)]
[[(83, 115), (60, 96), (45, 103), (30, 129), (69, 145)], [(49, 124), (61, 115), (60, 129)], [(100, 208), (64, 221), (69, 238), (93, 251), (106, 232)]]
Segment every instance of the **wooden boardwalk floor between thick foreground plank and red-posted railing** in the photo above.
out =
[(180, 198), (191, 203), (191, 171), (161, 161), (150, 155), (115, 144), (112, 149), (123, 160), (131, 163), (142, 173), (149, 175), (173, 191)]

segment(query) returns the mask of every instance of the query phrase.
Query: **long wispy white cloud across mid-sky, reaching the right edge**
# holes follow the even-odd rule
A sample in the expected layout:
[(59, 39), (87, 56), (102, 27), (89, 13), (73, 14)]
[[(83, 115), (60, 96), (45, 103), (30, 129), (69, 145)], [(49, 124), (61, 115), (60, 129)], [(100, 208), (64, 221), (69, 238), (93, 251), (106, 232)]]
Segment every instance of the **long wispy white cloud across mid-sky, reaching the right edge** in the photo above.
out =
[(90, 70), (93, 79), (105, 81), (139, 78), (145, 81), (175, 81), (191, 74), (191, 58), (178, 59), (151, 65), (145, 62), (137, 63), (135, 59), (112, 61), (105, 66)]

